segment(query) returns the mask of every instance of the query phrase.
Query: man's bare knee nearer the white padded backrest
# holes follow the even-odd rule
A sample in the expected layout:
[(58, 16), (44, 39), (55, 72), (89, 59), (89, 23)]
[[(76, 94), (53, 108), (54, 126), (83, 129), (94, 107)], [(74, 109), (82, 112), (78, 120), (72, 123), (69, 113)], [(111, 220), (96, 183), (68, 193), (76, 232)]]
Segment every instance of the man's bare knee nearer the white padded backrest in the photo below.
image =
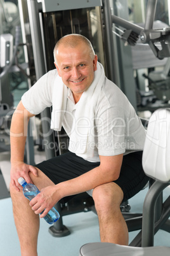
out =
[(114, 182), (100, 185), (93, 190), (96, 211), (111, 211), (120, 208), (123, 199), (122, 189)]

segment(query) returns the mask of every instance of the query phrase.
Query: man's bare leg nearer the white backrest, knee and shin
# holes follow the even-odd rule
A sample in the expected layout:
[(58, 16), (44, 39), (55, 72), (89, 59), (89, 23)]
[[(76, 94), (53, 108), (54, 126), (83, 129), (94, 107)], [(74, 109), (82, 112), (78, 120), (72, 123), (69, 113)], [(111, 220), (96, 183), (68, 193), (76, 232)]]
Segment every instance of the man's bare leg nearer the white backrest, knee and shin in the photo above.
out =
[(100, 185), (93, 190), (93, 199), (101, 242), (128, 245), (128, 227), (120, 210), (123, 199), (121, 188), (114, 182)]

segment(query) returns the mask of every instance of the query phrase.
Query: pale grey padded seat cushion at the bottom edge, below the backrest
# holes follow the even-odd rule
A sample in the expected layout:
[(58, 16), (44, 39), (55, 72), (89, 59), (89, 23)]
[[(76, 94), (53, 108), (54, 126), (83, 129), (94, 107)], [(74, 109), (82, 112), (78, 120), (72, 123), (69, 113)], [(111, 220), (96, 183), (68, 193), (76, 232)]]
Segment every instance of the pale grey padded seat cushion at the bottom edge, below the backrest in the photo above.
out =
[(79, 256), (169, 256), (170, 247), (132, 247), (113, 243), (88, 243), (83, 245)]

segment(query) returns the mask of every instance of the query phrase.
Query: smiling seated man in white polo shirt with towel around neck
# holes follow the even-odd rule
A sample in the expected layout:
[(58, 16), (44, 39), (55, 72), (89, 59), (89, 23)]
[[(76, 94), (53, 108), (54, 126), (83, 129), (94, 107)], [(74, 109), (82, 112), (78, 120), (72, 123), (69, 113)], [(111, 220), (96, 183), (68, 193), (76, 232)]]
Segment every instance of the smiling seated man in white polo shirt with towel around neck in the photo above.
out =
[[(63, 37), (54, 57), (56, 69), (23, 95), (11, 122), (10, 192), (22, 256), (37, 255), (39, 213), (46, 209), (44, 217), (58, 201), (91, 189), (101, 241), (128, 245), (120, 204), (148, 181), (141, 167), (145, 129), (126, 96), (105, 77), (88, 39)], [(29, 118), (47, 106), (53, 107), (51, 128), (63, 126), (69, 135), (69, 153), (29, 166), (23, 162), (24, 131)], [(41, 190), (30, 202), (20, 176)]]

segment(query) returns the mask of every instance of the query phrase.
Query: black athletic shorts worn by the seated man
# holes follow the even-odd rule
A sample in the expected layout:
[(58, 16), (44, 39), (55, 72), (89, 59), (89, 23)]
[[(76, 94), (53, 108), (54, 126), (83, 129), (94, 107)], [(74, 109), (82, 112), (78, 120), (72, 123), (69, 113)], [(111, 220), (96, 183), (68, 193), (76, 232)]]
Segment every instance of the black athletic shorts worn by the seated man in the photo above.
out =
[[(122, 188), (124, 192), (123, 201), (127, 201), (140, 192), (149, 180), (141, 165), (142, 153), (142, 151), (138, 151), (124, 155), (120, 176), (113, 181)], [(46, 174), (53, 183), (58, 184), (87, 173), (99, 165), (100, 162), (89, 162), (82, 159), (82, 157), (78, 157), (75, 153), (67, 152), (36, 164), (36, 167)], [(64, 197), (60, 202), (66, 203), (72, 197)]]

